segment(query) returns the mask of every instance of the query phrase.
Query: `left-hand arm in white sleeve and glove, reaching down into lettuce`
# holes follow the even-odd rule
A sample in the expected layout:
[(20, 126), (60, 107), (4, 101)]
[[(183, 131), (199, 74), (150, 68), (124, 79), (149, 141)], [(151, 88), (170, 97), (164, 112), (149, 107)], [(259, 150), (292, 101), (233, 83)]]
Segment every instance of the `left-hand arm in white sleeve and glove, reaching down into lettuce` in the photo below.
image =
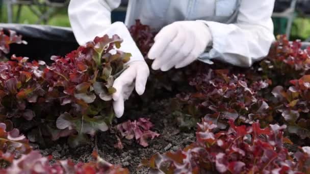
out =
[(119, 50), (132, 54), (128, 68), (115, 79), (113, 108), (116, 117), (124, 112), (124, 101), (134, 89), (139, 95), (145, 91), (149, 69), (144, 57), (122, 22), (111, 24), (111, 11), (120, 5), (120, 0), (71, 0), (68, 8), (69, 20), (77, 42), (84, 45), (96, 36), (117, 34), (123, 42)]

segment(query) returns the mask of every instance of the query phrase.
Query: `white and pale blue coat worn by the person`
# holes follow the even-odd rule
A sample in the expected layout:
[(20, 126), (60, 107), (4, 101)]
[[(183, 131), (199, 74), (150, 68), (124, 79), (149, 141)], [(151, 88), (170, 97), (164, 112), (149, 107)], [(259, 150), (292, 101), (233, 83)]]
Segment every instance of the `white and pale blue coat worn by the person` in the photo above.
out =
[[(111, 11), (121, 0), (71, 0), (69, 19), (75, 38), (83, 45), (95, 36), (118, 34), (124, 28), (111, 24)], [(140, 19), (143, 24), (160, 30), (174, 21), (201, 20), (209, 26), (213, 45), (199, 57), (200, 61), (218, 59), (249, 67), (268, 54), (274, 41), (271, 15), (275, 0), (130, 0), (125, 24)], [(125, 36), (125, 35), (124, 35)], [(133, 59), (143, 59), (135, 46), (122, 45)]]

